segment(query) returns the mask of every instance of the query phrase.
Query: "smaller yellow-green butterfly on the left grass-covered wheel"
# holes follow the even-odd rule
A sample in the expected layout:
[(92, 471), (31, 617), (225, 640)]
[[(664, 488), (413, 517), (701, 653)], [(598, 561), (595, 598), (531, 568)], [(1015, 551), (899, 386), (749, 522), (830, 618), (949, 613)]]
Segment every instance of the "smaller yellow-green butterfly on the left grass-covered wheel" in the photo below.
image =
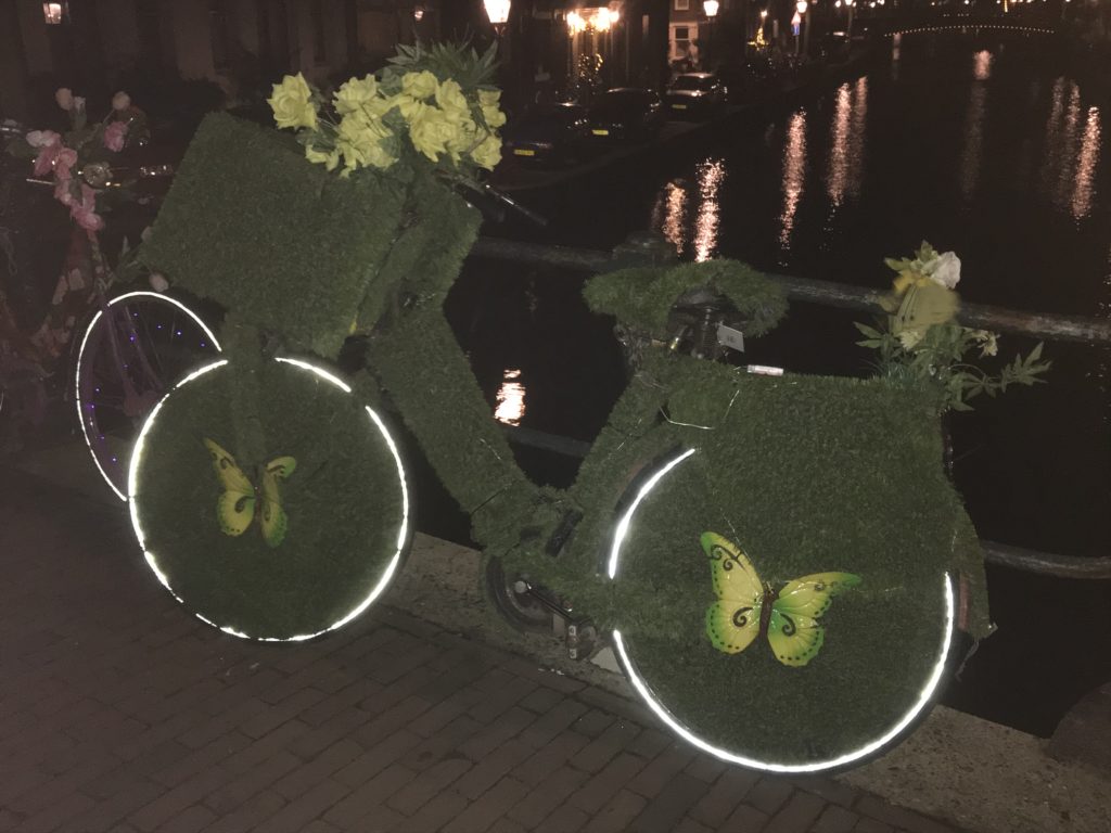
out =
[(260, 483), (256, 489), (250, 479), (236, 463), (236, 458), (212, 440), (204, 438), (204, 445), (212, 455), (212, 468), (220, 479), (223, 491), (216, 504), (216, 516), (226, 535), (242, 535), (251, 521), (259, 519), (262, 540), (270, 548), (286, 540), (289, 520), (281, 505), (279, 480), (287, 480), (297, 468), (291, 456), (278, 456), (262, 468)]

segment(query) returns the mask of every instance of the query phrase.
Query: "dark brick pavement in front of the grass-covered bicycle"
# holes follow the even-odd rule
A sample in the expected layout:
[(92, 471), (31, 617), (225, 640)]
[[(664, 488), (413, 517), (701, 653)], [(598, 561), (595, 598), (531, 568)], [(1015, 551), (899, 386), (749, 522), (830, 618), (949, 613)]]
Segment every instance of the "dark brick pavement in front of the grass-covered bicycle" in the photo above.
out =
[(639, 704), (389, 608), (224, 635), (119, 510), (0, 475), (0, 831), (945, 833), (724, 766)]

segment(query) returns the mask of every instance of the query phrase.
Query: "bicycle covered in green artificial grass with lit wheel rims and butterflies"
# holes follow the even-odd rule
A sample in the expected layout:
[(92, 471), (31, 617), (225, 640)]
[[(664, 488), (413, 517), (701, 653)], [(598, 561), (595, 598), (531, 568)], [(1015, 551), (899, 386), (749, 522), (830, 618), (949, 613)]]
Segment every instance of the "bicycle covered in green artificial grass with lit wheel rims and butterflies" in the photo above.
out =
[[(801, 772), (900, 736), (942, 678), (958, 574), (982, 586), (937, 403), (878, 380), (750, 374), (650, 338), (574, 485), (537, 486), (441, 310), (479, 219), (434, 178), (339, 179), (273, 131), (202, 126), (143, 255), (230, 310), (220, 361), (162, 400), (132, 455), (132, 520), (162, 583), (239, 636), (353, 619), (412, 529), (397, 413), (487, 556), (588, 611), (683, 737)], [(747, 335), (785, 305), (727, 261), (602, 274), (587, 297), (665, 343), (669, 309), (699, 288)], [(341, 378), (331, 362), (352, 332), (366, 369)]]

